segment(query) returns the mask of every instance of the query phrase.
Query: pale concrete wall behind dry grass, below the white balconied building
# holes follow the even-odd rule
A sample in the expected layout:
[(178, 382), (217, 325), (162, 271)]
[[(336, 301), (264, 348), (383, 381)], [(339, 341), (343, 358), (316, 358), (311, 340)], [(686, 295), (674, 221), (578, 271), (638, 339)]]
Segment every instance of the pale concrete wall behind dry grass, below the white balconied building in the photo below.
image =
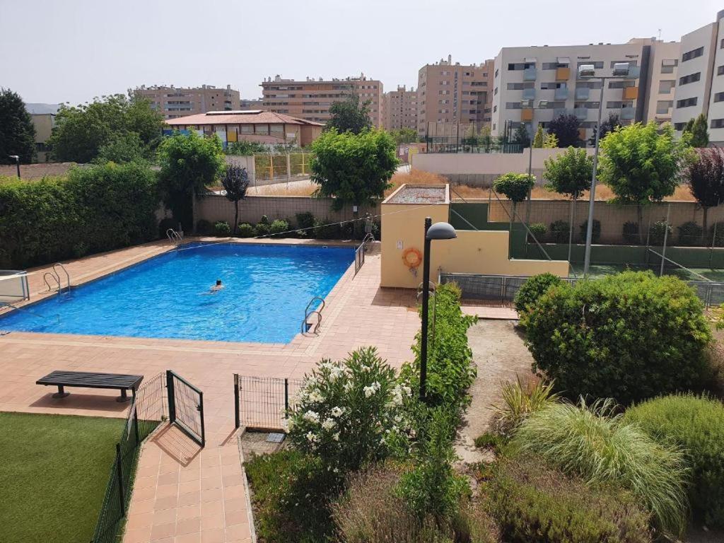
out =
[[(536, 182), (543, 184), (546, 159), (565, 153), (565, 149), (533, 149), (532, 173)], [(586, 153), (593, 154), (593, 149)], [(425, 172), (445, 175), (452, 183), (476, 187), (489, 187), (493, 180), (508, 172), (528, 172), (529, 149), (523, 153), (418, 153), (413, 156), (412, 167)]]

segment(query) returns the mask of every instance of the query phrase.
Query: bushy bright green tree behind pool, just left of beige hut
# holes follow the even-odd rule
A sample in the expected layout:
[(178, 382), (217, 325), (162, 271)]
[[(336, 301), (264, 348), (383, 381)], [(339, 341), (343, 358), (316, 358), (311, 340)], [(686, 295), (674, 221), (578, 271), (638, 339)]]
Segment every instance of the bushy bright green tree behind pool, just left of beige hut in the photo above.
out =
[(332, 128), (314, 140), (312, 151), (311, 180), (319, 185), (315, 194), (334, 198), (334, 209), (382, 198), (398, 164), (395, 140), (384, 130), (340, 134)]

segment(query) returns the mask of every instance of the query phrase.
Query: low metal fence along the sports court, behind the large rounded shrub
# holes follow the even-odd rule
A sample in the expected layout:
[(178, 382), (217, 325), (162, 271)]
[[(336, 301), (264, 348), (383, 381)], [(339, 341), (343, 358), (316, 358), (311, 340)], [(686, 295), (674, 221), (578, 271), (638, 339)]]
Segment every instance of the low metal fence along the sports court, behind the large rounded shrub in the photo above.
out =
[[(526, 279), (528, 277), (513, 275), (440, 274), (440, 282), (456, 283), (463, 293), (463, 298), (497, 303), (512, 302)], [(573, 285), (577, 279), (566, 277), (563, 280)], [(694, 288), (696, 295), (707, 308), (724, 303), (724, 283), (687, 281), (686, 284)]]

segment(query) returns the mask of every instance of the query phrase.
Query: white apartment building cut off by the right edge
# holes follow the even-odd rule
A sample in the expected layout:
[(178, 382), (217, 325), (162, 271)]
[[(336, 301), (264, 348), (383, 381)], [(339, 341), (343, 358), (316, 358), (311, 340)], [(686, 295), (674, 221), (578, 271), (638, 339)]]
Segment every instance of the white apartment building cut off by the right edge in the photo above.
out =
[(672, 122), (681, 131), (700, 114), (710, 143), (724, 143), (724, 10), (717, 20), (681, 38)]

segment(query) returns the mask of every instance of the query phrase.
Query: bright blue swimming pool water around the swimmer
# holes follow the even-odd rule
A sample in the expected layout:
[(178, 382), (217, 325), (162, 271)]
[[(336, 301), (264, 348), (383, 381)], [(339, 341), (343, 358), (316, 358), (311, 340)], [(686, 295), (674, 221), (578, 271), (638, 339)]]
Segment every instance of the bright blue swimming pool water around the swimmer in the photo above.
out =
[(196, 244), (12, 311), (0, 329), (287, 343), (353, 260), (353, 248)]

